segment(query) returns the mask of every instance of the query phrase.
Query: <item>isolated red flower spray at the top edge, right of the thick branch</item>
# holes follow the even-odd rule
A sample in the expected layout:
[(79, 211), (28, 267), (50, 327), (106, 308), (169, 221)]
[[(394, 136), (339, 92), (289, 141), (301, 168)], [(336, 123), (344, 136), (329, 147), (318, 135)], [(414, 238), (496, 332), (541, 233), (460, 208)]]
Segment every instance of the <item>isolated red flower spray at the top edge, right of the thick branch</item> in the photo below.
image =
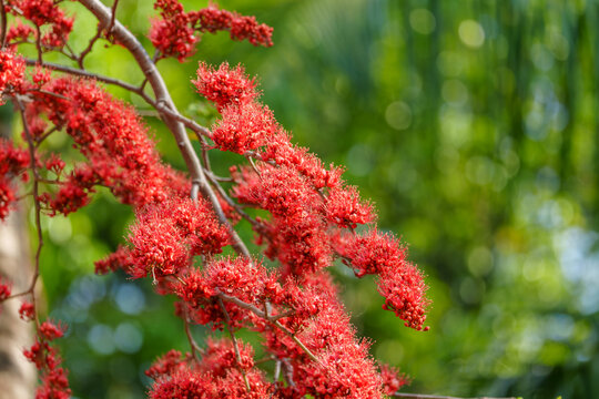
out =
[(213, 3), (199, 11), (184, 12), (179, 0), (156, 0), (154, 9), (160, 11), (160, 19), (152, 21), (150, 40), (162, 57), (176, 57), (180, 62), (195, 52), (196, 31), (227, 30), (231, 39), (247, 39), (254, 45), (273, 45), (272, 28), (258, 24), (254, 17), (220, 10)]

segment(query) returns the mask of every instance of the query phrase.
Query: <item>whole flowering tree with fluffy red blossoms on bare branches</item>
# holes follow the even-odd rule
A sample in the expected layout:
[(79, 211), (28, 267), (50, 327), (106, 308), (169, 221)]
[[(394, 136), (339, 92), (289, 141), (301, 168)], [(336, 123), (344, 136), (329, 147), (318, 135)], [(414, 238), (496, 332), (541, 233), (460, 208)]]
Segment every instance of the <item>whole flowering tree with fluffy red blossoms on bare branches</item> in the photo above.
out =
[[(0, 142), (0, 218), (17, 201), (30, 198), (38, 233), (29, 287), (12, 291), (11, 276), (2, 276), (0, 300), (21, 300), (21, 318), (34, 325), (37, 340), (23, 355), (40, 374), (37, 397), (71, 393), (52, 345), (64, 326), (44, 320), (35, 298), (43, 267), (40, 219), (78, 211), (99, 186), (131, 205), (136, 218), (126, 244), (97, 262), (95, 272), (122, 269), (131, 278), (151, 278), (159, 295), (176, 296), (175, 314), (190, 341), (190, 352), (171, 350), (146, 371), (154, 381), (150, 398), (398, 396), (407, 378), (370, 357), (327, 268), (341, 259), (357, 277), (376, 275), (383, 308), (407, 327), (426, 330), (426, 285), (405, 246), (377, 229), (373, 205), (344, 182), (341, 167), (293, 144), (243, 66), (200, 62), (190, 90), (216, 108), (220, 120), (210, 129), (177, 111), (156, 69), (165, 58), (187, 60), (205, 32), (229, 31), (233, 40), (270, 47), (272, 28), (212, 3), (185, 11), (177, 0), (156, 0), (150, 57), (115, 17), (119, 0), (111, 8), (99, 0), (79, 3), (95, 17), (98, 31), (87, 48), (74, 51), (69, 45), (74, 17), (60, 1), (0, 0), (0, 91), (22, 125), (21, 140)], [(144, 80), (134, 84), (89, 72), (85, 58), (99, 41), (126, 49)], [(26, 47), (37, 57), (21, 55)], [(47, 62), (48, 52), (69, 62)], [(160, 114), (185, 172), (161, 161), (134, 108), (103, 84), (139, 95)], [(187, 132), (201, 143), (199, 153)], [(79, 161), (45, 149), (47, 139), (58, 134), (70, 137)], [(211, 168), (214, 151), (246, 162), (219, 176)], [(251, 254), (240, 238), (241, 219), (251, 224), (262, 254)], [(220, 255), (226, 246), (236, 255)], [(200, 345), (192, 324), (227, 330), (229, 339)], [(261, 335), (267, 357), (260, 364), (272, 361), (274, 375), (261, 370), (253, 347), (236, 338), (240, 329)]]

